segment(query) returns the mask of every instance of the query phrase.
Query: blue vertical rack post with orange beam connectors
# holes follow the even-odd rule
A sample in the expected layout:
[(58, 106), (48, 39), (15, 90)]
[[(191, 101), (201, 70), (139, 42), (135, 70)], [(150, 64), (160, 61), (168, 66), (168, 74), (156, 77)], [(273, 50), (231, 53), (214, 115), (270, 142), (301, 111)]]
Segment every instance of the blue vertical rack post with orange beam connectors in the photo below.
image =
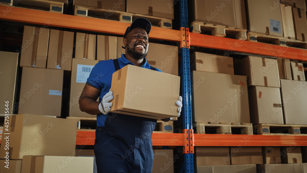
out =
[(181, 84), (183, 103), (183, 133), (185, 133), (186, 143), (184, 146), (184, 171), (193, 173), (193, 131), (192, 131), (192, 105), (191, 105), (191, 78), (190, 78), (190, 50), (187, 44), (188, 34), (188, 4), (187, 0), (180, 0), (180, 27), (183, 31), (183, 44), (181, 44)]

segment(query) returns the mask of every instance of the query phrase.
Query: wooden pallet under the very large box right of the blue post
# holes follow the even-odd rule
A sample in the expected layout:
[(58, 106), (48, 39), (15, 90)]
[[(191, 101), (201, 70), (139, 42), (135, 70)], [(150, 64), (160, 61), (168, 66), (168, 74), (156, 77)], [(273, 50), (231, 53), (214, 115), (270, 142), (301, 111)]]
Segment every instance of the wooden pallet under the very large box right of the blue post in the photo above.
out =
[(198, 134), (253, 135), (253, 125), (251, 123), (209, 124), (208, 122), (195, 122), (193, 123), (193, 129)]

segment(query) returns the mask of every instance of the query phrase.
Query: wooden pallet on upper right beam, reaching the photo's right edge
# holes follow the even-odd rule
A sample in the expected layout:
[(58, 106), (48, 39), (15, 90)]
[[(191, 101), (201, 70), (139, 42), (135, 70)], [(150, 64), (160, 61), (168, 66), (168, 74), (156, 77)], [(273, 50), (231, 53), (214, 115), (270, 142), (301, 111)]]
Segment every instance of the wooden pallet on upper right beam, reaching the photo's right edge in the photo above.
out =
[(279, 45), (284, 47), (292, 47), (298, 49), (307, 49), (307, 42), (300, 40), (293, 40), (287, 37), (278, 37), (274, 35), (266, 35), (263, 33), (248, 32), (247, 41), (267, 43), (272, 45)]

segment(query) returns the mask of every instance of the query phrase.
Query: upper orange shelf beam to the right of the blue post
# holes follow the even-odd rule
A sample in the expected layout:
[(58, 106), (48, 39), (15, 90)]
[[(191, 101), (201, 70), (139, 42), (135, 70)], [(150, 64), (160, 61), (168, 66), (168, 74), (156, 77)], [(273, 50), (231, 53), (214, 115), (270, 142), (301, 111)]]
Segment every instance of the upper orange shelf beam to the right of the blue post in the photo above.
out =
[(190, 33), (190, 45), (225, 50), (226, 55), (227, 53), (240, 52), (307, 61), (307, 50), (304, 49), (242, 41), (199, 33)]

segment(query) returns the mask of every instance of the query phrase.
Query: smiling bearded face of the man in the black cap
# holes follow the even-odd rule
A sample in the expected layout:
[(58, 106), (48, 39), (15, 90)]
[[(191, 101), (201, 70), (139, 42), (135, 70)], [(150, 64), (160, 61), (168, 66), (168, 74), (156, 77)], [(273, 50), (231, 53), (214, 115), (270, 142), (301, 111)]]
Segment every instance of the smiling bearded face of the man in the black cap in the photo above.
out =
[(148, 51), (148, 34), (142, 28), (134, 28), (124, 38), (126, 54), (135, 60), (145, 58)]

